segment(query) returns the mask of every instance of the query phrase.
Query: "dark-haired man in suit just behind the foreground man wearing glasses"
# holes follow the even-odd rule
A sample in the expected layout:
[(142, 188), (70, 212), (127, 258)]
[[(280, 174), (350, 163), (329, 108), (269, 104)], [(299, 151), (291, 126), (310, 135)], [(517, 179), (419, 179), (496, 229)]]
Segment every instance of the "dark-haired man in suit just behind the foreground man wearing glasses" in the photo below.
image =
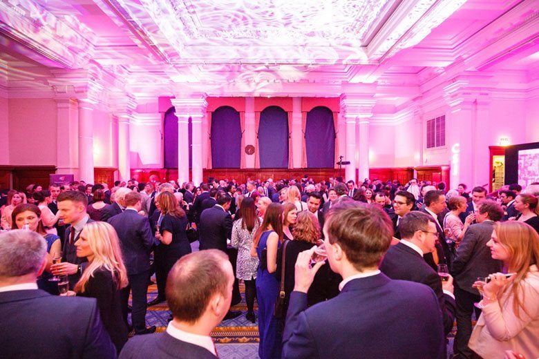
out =
[[(436, 251), (432, 253), (425, 253), (423, 258), (426, 262), (437, 270), (437, 264), (447, 264), (451, 269), (451, 250), (446, 242), (446, 235), (442, 227), (438, 215), (442, 213), (447, 207), (446, 195), (444, 191), (432, 190), (425, 193), (424, 206), (419, 210), (433, 217), (436, 223), (436, 231), (438, 233), (438, 241), (436, 242)], [(435, 256), (437, 259), (435, 259)]]

